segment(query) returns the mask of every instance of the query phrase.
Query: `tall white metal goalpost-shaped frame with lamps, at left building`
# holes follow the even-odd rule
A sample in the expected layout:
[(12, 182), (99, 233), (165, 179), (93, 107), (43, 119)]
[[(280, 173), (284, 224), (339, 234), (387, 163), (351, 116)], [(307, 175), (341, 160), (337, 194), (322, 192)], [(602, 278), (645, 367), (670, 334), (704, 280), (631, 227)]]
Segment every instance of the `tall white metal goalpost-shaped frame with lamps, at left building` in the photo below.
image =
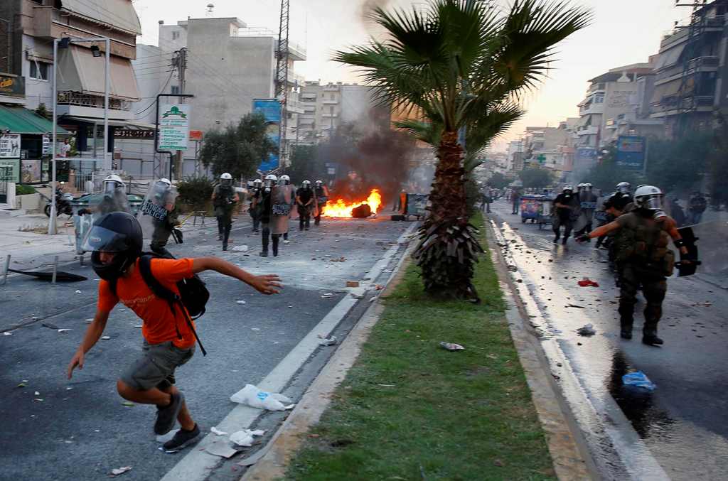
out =
[[(100, 57), (98, 44), (96, 42), (103, 41), (106, 44), (106, 61), (103, 65), (104, 74), (104, 87), (103, 87), (103, 165), (106, 168), (106, 156), (108, 155), (108, 77), (109, 77), (109, 65), (111, 62), (111, 39), (108, 37), (91, 37), (88, 39), (76, 39), (73, 41), (92, 41), (94, 45), (91, 47), (91, 52), (94, 57)], [(56, 188), (56, 143), (58, 142), (56, 134), (56, 124), (58, 122), (58, 49), (67, 49), (71, 45), (71, 37), (63, 37), (62, 39), (53, 39), (53, 146), (52, 146), (52, 180), (51, 180), (51, 196), (50, 196), (50, 219), (48, 219), (48, 234), (55, 235), (58, 232), (58, 226), (56, 226), (56, 206), (55, 206), (55, 188)], [(94, 49), (95, 47), (95, 49)], [(94, 147), (95, 148), (95, 147)]]

